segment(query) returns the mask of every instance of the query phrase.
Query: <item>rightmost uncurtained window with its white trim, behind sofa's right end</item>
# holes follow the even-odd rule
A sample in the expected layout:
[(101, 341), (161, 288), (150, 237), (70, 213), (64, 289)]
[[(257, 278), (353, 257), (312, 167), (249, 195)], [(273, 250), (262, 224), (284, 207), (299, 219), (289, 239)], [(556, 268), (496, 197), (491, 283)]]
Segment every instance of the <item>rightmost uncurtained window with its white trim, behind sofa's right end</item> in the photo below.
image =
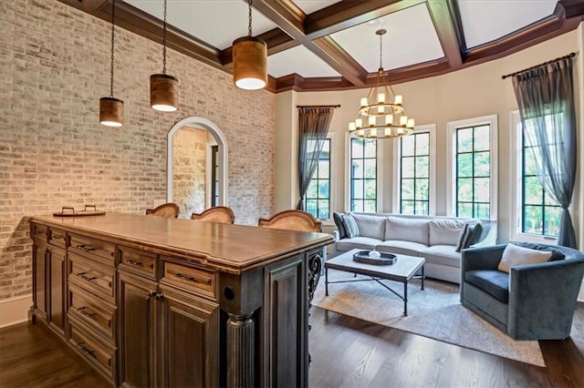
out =
[(448, 123), (453, 161), (449, 214), (496, 218), (496, 128), (496, 116)]

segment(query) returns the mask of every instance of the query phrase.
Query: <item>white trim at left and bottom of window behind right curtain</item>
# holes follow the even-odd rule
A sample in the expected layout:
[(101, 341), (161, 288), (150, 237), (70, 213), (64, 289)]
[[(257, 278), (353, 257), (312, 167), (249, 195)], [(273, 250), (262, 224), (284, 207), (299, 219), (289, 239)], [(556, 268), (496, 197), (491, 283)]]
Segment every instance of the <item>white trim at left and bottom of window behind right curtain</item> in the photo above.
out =
[(511, 171), (509, 173), (509, 183), (511, 189), (509, 190), (509, 204), (511, 208), (511, 217), (509, 225), (509, 240), (525, 241), (533, 243), (542, 244), (558, 244), (558, 239), (550, 236), (538, 236), (535, 234), (524, 233), (521, 231), (521, 215), (522, 207), (521, 200), (523, 195), (523, 185), (521, 181), (522, 168), (521, 160), (519, 160), (519, 155), (521, 155), (521, 130), (519, 124), (521, 123), (519, 117), (519, 111), (513, 110), (509, 112), (509, 164), (511, 166)]

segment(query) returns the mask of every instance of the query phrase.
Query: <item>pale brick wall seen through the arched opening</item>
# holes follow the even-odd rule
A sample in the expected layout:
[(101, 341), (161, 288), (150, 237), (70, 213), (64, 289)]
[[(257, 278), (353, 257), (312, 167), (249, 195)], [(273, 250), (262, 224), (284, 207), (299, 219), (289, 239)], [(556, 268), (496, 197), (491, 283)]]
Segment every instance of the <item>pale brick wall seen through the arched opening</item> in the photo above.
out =
[(181, 218), (205, 209), (207, 138), (206, 129), (183, 127), (172, 141), (172, 202)]

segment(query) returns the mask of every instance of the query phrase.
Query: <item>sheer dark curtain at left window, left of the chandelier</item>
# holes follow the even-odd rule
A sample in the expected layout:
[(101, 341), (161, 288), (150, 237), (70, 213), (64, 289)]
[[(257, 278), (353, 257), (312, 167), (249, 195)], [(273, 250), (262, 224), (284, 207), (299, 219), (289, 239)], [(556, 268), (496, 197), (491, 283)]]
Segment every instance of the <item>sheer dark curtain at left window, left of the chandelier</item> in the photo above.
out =
[(335, 107), (298, 107), (298, 189), (297, 209), (304, 210), (304, 196), (317, 169), (320, 151), (327, 138)]

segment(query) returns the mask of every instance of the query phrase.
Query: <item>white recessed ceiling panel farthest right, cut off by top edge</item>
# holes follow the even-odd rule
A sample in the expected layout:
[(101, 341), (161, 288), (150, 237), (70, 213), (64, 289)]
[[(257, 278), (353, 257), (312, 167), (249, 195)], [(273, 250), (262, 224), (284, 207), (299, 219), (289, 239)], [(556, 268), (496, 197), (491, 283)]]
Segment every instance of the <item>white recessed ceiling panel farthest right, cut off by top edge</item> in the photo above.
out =
[(481, 46), (554, 13), (556, 0), (458, 0), (467, 48)]

